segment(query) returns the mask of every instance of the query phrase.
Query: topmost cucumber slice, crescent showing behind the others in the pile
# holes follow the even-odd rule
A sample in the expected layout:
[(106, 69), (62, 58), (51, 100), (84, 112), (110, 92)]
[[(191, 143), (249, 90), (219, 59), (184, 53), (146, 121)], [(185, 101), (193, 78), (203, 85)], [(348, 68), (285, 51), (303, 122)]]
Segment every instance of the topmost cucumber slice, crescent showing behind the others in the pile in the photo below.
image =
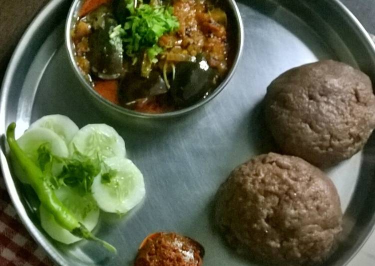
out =
[(33, 122), (29, 129), (36, 127), (51, 129), (53, 132), (58, 134), (66, 144), (70, 142), (79, 129), (69, 117), (61, 114), (45, 115)]

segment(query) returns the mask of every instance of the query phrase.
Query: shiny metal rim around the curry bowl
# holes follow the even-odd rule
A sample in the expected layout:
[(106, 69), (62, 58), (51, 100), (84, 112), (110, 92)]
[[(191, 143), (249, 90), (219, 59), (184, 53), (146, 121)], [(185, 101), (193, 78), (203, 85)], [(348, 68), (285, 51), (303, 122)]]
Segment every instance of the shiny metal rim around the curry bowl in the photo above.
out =
[(236, 42), (237, 42), (237, 53), (233, 59), (233, 63), (226, 74), (225, 78), (220, 82), (220, 84), (214, 89), (212, 93), (210, 93), (206, 98), (194, 103), (193, 105), (190, 105), (188, 107), (171, 111), (171, 112), (163, 112), (163, 113), (147, 113), (147, 112), (139, 112), (134, 111), (131, 109), (127, 109), (121, 105), (115, 104), (108, 99), (101, 96), (93, 87), (87, 82), (87, 80), (84, 78), (83, 74), (81, 73), (78, 65), (75, 62), (74, 59), (74, 49), (73, 49), (73, 41), (71, 38), (71, 29), (73, 24), (75, 23), (76, 13), (78, 12), (77, 6), (79, 5), (82, 0), (74, 0), (69, 8), (69, 12), (67, 15), (66, 23), (65, 23), (65, 47), (68, 53), (69, 62), (70, 65), (73, 68), (73, 72), (81, 82), (81, 84), (85, 87), (87, 91), (95, 98), (95, 100), (98, 103), (104, 104), (107, 108), (110, 108), (111, 110), (114, 110), (117, 113), (125, 114), (133, 117), (141, 117), (141, 118), (169, 118), (169, 117), (177, 117), (181, 116), (183, 114), (186, 114), (188, 112), (191, 112), (192, 110), (197, 109), (198, 107), (203, 106), (210, 100), (212, 100), (215, 96), (217, 96), (223, 89), (226, 87), (230, 79), (235, 73), (235, 70), (238, 66), (239, 60), (241, 58), (242, 52), (243, 52), (243, 46), (244, 46), (244, 25), (241, 18), (240, 10), (236, 4), (235, 0), (227, 0), (229, 3), (229, 6), (233, 9), (234, 17), (235, 17), (235, 24), (238, 30)]

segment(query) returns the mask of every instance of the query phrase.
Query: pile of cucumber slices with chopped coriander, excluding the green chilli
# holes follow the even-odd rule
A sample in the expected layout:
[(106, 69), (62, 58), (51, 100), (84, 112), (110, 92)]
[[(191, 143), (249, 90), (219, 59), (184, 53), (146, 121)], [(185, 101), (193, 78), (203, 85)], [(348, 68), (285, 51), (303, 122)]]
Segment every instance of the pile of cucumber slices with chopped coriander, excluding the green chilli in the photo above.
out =
[[(125, 158), (124, 139), (107, 124), (79, 129), (67, 116), (46, 115), (33, 122), (17, 142), (45, 171), (57, 198), (89, 230), (98, 222), (99, 209), (125, 213), (145, 196), (141, 171)], [(12, 165), (17, 177), (29, 183), (16, 160)], [(62, 228), (43, 205), (40, 222), (57, 241), (69, 244), (80, 240)]]

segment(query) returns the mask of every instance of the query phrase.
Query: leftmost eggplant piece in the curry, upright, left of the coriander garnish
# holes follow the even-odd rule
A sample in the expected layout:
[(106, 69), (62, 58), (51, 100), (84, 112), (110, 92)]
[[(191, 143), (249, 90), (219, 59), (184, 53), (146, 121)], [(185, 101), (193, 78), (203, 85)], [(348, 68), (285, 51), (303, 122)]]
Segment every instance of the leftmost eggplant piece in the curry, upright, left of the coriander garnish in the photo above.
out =
[(91, 71), (102, 79), (115, 79), (123, 73), (123, 48), (121, 38), (109, 37), (109, 32), (117, 26), (108, 7), (101, 6), (87, 15), (87, 21), (93, 26), (89, 35), (87, 52)]

